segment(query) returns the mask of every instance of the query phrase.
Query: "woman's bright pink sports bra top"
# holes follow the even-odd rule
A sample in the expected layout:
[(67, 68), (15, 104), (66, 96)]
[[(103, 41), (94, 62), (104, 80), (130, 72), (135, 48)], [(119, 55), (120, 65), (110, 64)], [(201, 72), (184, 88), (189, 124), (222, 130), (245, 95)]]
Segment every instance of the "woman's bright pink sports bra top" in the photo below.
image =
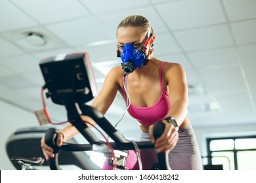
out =
[[(159, 69), (160, 75), (160, 86), (161, 86), (161, 96), (158, 101), (150, 106), (150, 107), (136, 107), (133, 104), (130, 105), (128, 108), (129, 114), (138, 120), (142, 125), (152, 125), (159, 120), (163, 120), (167, 113), (171, 108), (171, 104), (169, 101), (169, 94), (163, 88), (162, 78), (161, 78), (161, 68), (166, 62), (161, 63)], [(127, 83), (127, 76), (125, 76), (124, 84), (126, 86)], [(124, 90), (125, 92), (125, 90)], [(125, 93), (126, 95), (126, 93)]]

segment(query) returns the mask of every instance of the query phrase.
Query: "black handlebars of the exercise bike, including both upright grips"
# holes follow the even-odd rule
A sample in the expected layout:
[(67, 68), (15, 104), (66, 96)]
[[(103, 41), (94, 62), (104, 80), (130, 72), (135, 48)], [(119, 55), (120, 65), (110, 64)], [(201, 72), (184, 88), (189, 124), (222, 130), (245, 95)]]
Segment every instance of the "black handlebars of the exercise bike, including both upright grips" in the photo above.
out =
[[(106, 118), (104, 118), (103, 114), (96, 110), (96, 108), (84, 105), (81, 108), (83, 115), (90, 116), (95, 120), (95, 122), (114, 140), (114, 142), (110, 142), (112, 147), (116, 150), (134, 150), (135, 146), (133, 142), (125, 139), (119, 131), (117, 131)], [(56, 131), (53, 128), (49, 128), (45, 133), (45, 143), (53, 148), (54, 150), (54, 158), (49, 158), (49, 166), (50, 169), (60, 170), (60, 166), (58, 165), (58, 153), (60, 150), (67, 151), (88, 151), (93, 150), (93, 144), (106, 144), (106, 142), (100, 141), (96, 138), (96, 136), (91, 132), (89, 127), (81, 121), (80, 116), (76, 116), (75, 120), (72, 122), (73, 125), (81, 132), (83, 137), (89, 141), (89, 144), (70, 144), (64, 142), (61, 147), (58, 147), (56, 144)], [(158, 139), (165, 129), (165, 124), (163, 122), (158, 121), (154, 125), (154, 138)], [(154, 144), (150, 141), (139, 141), (136, 142), (139, 149), (143, 148), (154, 148)], [(158, 154), (158, 161), (160, 165), (160, 169), (171, 169), (169, 167), (168, 156), (164, 152)]]

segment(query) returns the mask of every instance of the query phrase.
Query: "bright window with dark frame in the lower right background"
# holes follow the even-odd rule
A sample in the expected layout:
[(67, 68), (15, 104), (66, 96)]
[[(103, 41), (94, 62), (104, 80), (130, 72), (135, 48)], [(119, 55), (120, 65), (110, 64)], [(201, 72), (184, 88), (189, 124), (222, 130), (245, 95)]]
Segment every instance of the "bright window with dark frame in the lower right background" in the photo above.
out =
[(256, 136), (207, 139), (207, 164), (224, 170), (256, 170)]

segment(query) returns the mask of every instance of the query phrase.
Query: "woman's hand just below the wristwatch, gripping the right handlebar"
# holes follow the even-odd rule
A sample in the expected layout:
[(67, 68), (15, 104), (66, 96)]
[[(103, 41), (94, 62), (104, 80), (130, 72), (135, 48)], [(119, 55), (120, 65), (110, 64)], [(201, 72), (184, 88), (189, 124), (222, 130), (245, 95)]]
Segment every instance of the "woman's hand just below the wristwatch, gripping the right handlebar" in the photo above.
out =
[(165, 154), (167, 154), (173, 150), (177, 144), (179, 139), (179, 128), (175, 127), (173, 124), (168, 123), (166, 120), (163, 120), (162, 122), (165, 124), (165, 130), (163, 131), (161, 137), (154, 139), (154, 125), (150, 125), (148, 133), (150, 135), (151, 142), (155, 144), (156, 150), (158, 150), (158, 152), (165, 152)]

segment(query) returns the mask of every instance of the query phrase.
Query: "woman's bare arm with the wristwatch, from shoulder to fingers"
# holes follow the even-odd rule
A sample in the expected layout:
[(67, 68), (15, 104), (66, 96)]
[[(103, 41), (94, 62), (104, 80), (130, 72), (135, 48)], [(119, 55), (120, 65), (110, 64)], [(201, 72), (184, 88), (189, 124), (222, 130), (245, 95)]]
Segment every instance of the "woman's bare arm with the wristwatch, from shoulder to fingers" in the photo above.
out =
[[(169, 91), (169, 99), (171, 103), (171, 109), (167, 113), (167, 116), (175, 118), (178, 126), (180, 126), (186, 118), (188, 106), (186, 75), (184, 69), (177, 63), (167, 63), (162, 71), (163, 82), (168, 86), (167, 90)], [(158, 152), (169, 153), (177, 144), (179, 139), (179, 128), (175, 127), (173, 124), (169, 124), (167, 120), (163, 120), (163, 123), (165, 124), (165, 130), (158, 139), (154, 139), (152, 135), (154, 125), (150, 125), (150, 139), (155, 144)]]

